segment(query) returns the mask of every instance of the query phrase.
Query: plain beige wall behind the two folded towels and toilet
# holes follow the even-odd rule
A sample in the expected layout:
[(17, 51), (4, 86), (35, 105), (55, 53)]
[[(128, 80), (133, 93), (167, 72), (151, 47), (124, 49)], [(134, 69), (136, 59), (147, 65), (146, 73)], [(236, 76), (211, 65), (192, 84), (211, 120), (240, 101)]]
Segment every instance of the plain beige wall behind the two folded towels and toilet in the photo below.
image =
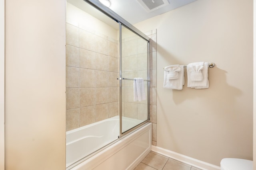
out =
[[(197, 0), (135, 25), (158, 32), (158, 147), (218, 166), (252, 160), (252, 2)], [(216, 64), (210, 88), (162, 87), (164, 66), (198, 61)]]

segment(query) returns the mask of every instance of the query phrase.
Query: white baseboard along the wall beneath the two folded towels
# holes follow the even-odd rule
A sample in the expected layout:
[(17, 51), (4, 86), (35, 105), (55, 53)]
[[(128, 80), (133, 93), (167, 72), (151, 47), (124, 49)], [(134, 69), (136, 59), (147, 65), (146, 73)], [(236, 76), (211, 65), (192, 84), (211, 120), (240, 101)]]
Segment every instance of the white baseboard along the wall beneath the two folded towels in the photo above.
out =
[(185, 164), (194, 166), (196, 168), (202, 169), (202, 170), (220, 170), (219, 166), (213, 165), (213, 164), (209, 164), (207, 162), (195, 159), (195, 158), (191, 158), (189, 156), (183, 155), (183, 154), (179, 154), (177, 152), (173, 152), (171, 150), (167, 150), (167, 149), (163, 149), (160, 147), (156, 147), (152, 145), (152, 151), (162, 154), (164, 156), (167, 156), (169, 158), (173, 158), (175, 160), (178, 160), (180, 162), (183, 162)]

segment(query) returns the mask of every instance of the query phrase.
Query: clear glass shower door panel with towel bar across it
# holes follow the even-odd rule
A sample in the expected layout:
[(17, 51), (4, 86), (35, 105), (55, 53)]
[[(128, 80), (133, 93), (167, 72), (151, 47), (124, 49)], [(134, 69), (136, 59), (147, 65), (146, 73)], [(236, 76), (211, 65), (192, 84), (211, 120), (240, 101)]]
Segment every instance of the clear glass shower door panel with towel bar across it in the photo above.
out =
[[(148, 41), (123, 25), (122, 78), (122, 133), (124, 133), (148, 120)], [(139, 80), (134, 78), (143, 78), (144, 81), (139, 84), (136, 83)], [(139, 90), (142, 94), (141, 101), (138, 101)]]

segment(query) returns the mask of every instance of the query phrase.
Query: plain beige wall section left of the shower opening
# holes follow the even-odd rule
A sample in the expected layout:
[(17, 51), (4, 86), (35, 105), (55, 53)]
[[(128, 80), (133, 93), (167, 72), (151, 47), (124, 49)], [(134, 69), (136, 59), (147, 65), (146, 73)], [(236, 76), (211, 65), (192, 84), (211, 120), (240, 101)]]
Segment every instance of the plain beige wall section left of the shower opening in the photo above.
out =
[(65, 169), (65, 1), (6, 1), (6, 170)]

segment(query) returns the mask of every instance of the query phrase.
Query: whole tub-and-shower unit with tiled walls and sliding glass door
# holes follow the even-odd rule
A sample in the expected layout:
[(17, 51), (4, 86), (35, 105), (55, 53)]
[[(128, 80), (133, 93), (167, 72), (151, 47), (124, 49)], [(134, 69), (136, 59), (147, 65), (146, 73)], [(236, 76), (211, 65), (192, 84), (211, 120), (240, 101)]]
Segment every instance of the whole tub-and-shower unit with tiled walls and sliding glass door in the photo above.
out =
[(97, 0), (67, 0), (67, 170), (135, 168), (150, 152), (149, 67), (149, 37)]

